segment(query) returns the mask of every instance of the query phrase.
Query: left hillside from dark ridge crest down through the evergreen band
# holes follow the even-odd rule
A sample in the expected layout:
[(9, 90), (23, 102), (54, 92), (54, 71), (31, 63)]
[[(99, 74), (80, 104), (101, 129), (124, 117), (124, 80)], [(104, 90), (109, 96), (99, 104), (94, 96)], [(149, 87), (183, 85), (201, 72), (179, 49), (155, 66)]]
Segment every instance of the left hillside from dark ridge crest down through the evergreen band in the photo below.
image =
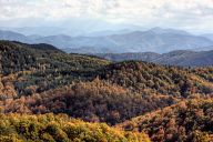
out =
[(47, 44), (9, 41), (0, 41), (0, 62), (3, 87), (10, 83), (18, 94), (24, 95), (32, 94), (30, 88), (40, 93), (74, 80), (89, 80), (92, 71), (110, 63), (89, 55), (67, 54)]

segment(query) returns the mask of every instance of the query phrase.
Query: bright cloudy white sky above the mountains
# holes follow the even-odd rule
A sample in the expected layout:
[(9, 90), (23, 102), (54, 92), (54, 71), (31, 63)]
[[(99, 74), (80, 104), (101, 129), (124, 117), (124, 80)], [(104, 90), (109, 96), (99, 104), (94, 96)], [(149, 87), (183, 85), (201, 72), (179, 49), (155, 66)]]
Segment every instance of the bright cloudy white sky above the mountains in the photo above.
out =
[[(83, 20), (82, 20), (83, 19)], [(95, 20), (213, 32), (213, 0), (0, 0), (0, 27)], [(97, 22), (99, 24), (99, 22)]]

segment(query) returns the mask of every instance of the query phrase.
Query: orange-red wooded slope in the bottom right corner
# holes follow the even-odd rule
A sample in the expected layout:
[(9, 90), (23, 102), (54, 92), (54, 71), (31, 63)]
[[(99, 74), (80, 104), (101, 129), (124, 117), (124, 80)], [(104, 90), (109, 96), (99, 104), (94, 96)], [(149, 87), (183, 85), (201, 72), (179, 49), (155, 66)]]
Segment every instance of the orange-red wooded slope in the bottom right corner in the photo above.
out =
[(212, 99), (194, 99), (138, 116), (119, 126), (146, 132), (155, 142), (212, 142)]

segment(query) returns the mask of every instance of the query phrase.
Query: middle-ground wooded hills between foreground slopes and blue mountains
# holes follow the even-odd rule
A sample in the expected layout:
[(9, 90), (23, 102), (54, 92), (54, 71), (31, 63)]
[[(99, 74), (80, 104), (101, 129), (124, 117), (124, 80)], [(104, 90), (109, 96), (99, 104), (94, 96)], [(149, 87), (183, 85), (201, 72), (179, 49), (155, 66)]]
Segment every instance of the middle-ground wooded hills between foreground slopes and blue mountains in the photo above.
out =
[[(113, 63), (54, 47), (1, 41), (3, 113), (65, 113), (116, 124), (182, 99), (212, 95), (212, 68)], [(10, 103), (8, 103), (8, 100)]]

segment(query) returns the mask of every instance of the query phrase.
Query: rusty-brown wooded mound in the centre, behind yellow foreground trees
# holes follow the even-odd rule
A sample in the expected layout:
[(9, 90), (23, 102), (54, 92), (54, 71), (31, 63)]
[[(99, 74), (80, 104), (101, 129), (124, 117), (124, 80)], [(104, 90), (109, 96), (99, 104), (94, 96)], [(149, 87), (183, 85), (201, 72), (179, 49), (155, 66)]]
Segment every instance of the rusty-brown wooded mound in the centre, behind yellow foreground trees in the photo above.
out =
[(116, 124), (178, 100), (164, 95), (142, 95), (95, 79), (41, 94), (0, 101), (2, 113), (67, 113), (90, 122)]

